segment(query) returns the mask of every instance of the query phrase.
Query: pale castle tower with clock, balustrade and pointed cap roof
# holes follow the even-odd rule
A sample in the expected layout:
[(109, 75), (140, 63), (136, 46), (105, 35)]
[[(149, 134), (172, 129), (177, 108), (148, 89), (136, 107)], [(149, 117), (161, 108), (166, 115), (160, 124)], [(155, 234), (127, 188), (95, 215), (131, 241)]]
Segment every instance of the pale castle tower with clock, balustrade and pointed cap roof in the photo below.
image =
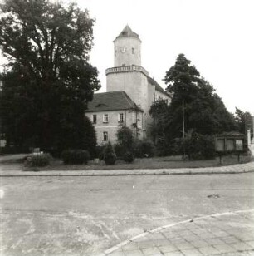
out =
[(144, 112), (149, 108), (149, 73), (141, 65), (141, 40), (127, 25), (114, 40), (114, 67), (106, 70), (107, 91), (125, 91)]

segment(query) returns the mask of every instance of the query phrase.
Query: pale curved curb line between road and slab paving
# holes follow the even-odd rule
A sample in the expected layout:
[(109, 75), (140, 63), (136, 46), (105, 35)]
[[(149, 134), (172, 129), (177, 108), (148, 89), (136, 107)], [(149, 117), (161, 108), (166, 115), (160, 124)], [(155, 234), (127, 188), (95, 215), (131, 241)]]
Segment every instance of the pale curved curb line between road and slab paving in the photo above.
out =
[(161, 226), (159, 228), (152, 229), (152, 230), (146, 231), (144, 233), (135, 235), (134, 237), (132, 237), (130, 239), (126, 239), (125, 241), (121, 242), (120, 244), (116, 244), (115, 246), (111, 247), (110, 249), (106, 249), (102, 254), (98, 254), (97, 256), (106, 256), (107, 254), (110, 254), (110, 253), (114, 252), (115, 250), (120, 249), (122, 246), (124, 246), (126, 244), (129, 244), (129, 243), (133, 242), (136, 239), (140, 239), (140, 238), (146, 236), (147, 234), (153, 234), (153, 233), (159, 232), (160, 230), (168, 229), (168, 228), (171, 228), (171, 227), (176, 226), (178, 224), (193, 222), (193, 221), (198, 220), (198, 219), (206, 219), (206, 218), (210, 218), (210, 217), (217, 217), (217, 216), (229, 215), (229, 214), (241, 214), (241, 213), (248, 213), (248, 212), (254, 212), (254, 209), (241, 209), (241, 210), (237, 210), (237, 211), (234, 211), (234, 212), (225, 212), (225, 213), (221, 213), (221, 214), (205, 215), (205, 216), (201, 216), (201, 217), (197, 217), (197, 218), (193, 218), (193, 219), (186, 219), (186, 220), (179, 221), (179, 222), (176, 222), (176, 223), (173, 223), (173, 224), (167, 224), (167, 225)]

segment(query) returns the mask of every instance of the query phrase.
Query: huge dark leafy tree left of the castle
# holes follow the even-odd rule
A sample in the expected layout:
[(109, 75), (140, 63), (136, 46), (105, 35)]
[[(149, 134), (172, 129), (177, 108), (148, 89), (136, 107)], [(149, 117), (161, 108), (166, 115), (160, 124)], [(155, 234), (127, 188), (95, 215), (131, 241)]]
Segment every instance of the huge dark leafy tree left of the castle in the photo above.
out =
[(6, 0), (1, 9), (9, 69), (2, 74), (0, 111), (8, 143), (85, 148), (85, 108), (100, 89), (89, 63), (95, 21), (74, 3)]

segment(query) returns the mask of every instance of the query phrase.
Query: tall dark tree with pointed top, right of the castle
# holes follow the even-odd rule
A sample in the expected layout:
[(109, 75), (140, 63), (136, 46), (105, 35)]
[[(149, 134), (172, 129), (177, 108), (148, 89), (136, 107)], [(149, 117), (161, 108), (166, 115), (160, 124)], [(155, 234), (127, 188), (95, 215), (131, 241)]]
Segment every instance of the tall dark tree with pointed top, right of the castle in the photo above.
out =
[(232, 114), (217, 96), (213, 86), (205, 81), (195, 66), (179, 54), (164, 81), (172, 101), (166, 125), (169, 137), (183, 136), (183, 111), (185, 130), (194, 130), (202, 135), (211, 135), (235, 129)]

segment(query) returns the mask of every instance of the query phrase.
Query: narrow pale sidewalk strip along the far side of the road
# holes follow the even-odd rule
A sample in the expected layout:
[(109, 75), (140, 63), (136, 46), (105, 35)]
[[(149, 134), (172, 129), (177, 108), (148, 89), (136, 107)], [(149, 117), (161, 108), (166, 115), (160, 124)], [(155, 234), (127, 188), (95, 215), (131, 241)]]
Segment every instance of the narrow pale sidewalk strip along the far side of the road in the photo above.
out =
[(120, 175), (203, 175), (254, 172), (254, 162), (206, 168), (136, 170), (26, 170), (22, 164), (1, 164), (0, 176), (120, 176)]

